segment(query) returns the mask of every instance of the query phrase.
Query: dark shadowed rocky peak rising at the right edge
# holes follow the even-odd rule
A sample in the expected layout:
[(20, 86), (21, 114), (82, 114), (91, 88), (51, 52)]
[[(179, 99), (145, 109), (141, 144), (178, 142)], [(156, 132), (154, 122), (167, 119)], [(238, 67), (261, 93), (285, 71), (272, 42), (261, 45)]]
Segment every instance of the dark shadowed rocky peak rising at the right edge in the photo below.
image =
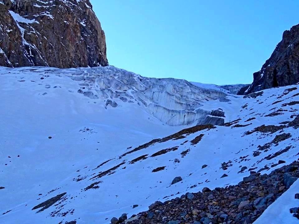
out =
[(259, 72), (245, 94), (299, 82), (299, 24), (283, 32), (271, 57)]

